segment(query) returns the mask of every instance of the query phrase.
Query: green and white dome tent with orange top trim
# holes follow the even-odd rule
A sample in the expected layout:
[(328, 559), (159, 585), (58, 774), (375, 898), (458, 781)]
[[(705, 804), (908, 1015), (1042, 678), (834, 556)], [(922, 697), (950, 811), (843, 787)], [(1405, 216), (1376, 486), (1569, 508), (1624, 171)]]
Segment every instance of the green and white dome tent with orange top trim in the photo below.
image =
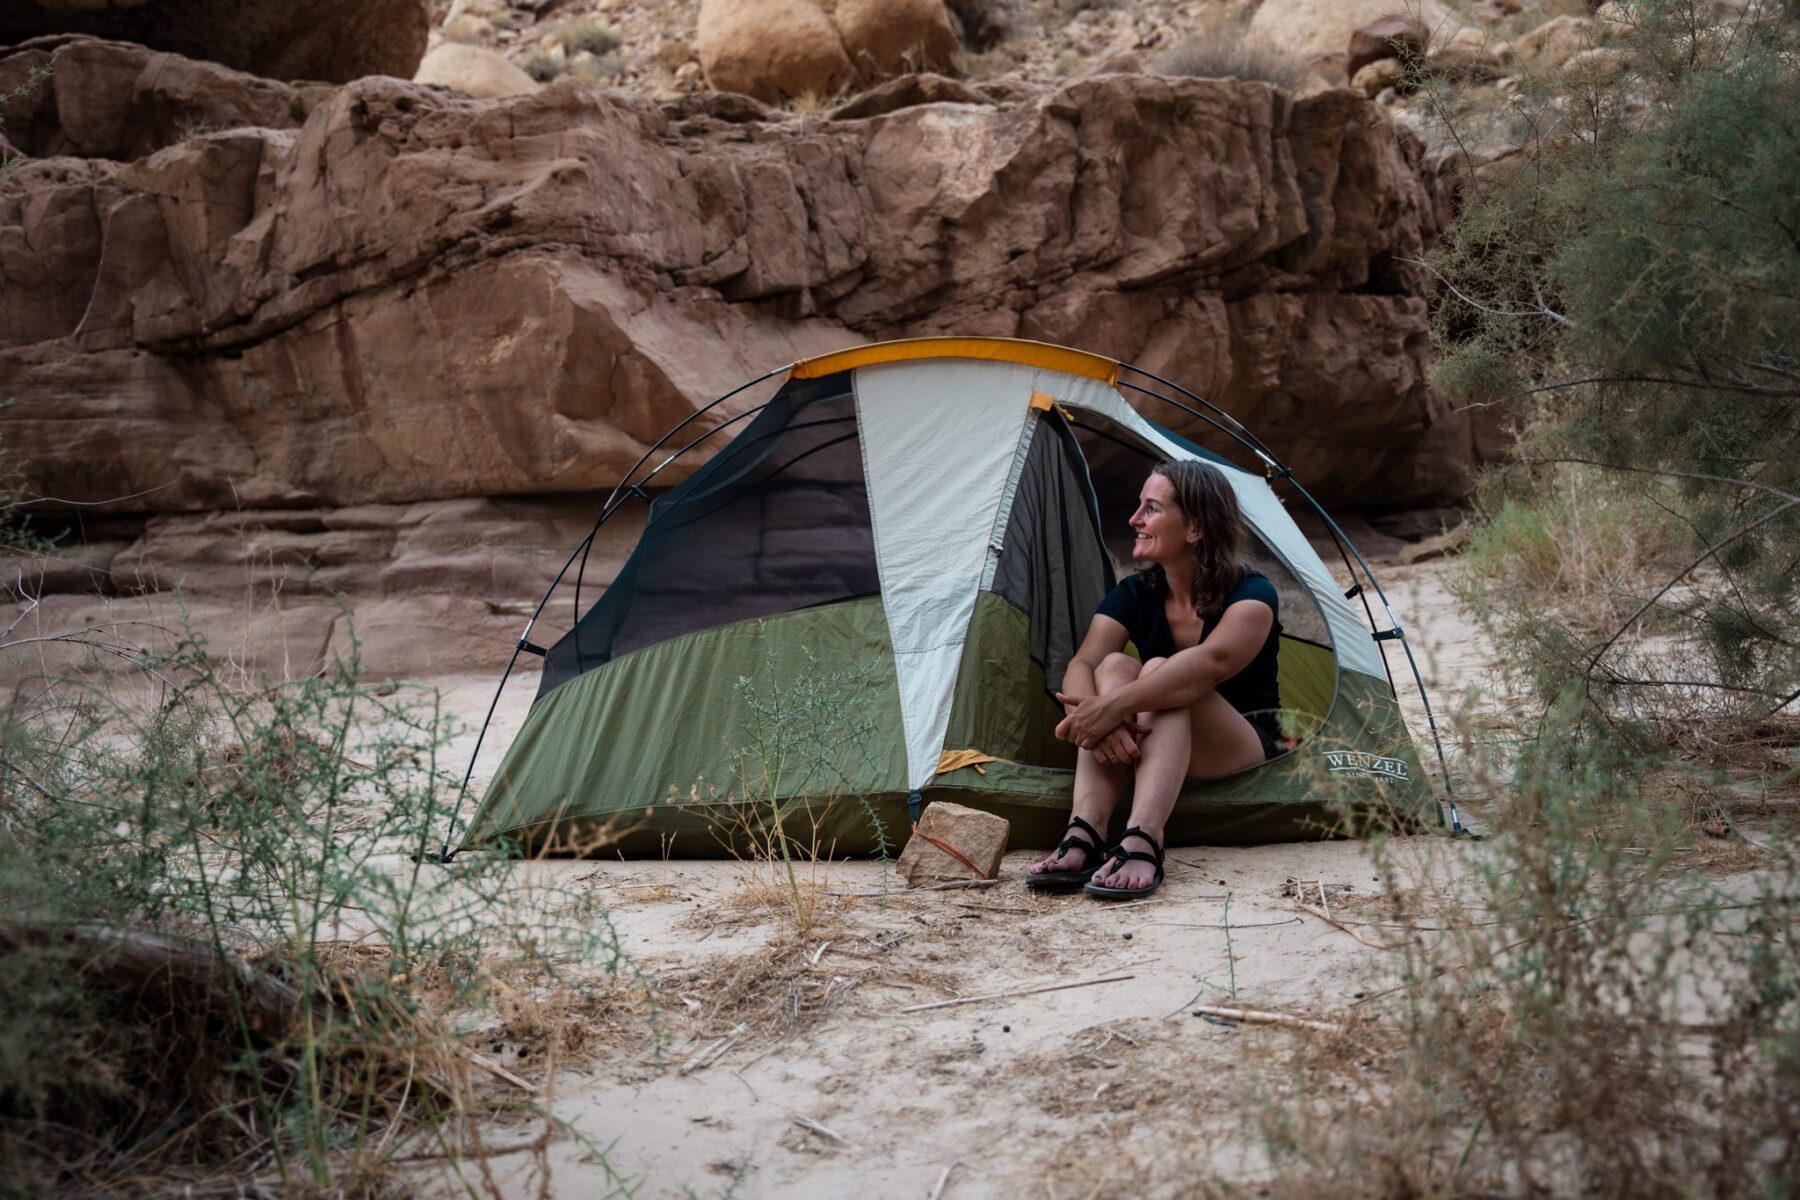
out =
[[(1222, 410), (1111, 358), (1010, 338), (862, 345), (745, 387), (767, 380), (779, 385), (765, 403), (643, 473), (713, 407), (693, 414), (614, 491), (596, 531), (626, 504), (648, 516), (585, 612), (594, 534), (571, 554), (558, 579), (572, 579), (578, 619), (538, 646), (535, 615), (518, 640), (515, 664), (544, 658), (536, 700), (464, 847), (578, 847), (607, 829), (607, 853), (716, 856), (779, 820), (821, 853), (860, 855), (898, 846), (934, 799), (1006, 817), (1013, 846), (1055, 844), (1075, 759), (1053, 738), (1051, 693), (1130, 569), (1125, 516), (1148, 468), (1184, 457), (1226, 473), (1280, 592), (1289, 748), (1190, 781), (1168, 844), (1436, 815), (1386, 666), (1386, 644), (1404, 648), (1386, 597), (1363, 587), (1373, 578), (1334, 524), (1359, 583), (1332, 579), (1273, 484), (1310, 497)], [(1206, 421), (1256, 470), (1127, 396)], [(731, 426), (688, 480), (646, 489)]]

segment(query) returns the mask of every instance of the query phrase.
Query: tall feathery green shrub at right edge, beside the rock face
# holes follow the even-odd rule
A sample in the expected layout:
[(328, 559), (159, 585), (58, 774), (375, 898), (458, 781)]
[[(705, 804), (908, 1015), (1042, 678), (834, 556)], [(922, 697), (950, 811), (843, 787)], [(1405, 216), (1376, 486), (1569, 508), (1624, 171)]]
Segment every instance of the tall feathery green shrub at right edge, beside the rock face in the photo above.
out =
[[(1744, 729), (1800, 698), (1800, 9), (1625, 13), (1609, 54), (1629, 70), (1521, 90), (1525, 149), (1472, 166), (1431, 266), (1436, 381), (1526, 426), (1523, 464), (1485, 491), (1478, 574), (1541, 570), (1544, 540), (1516, 536), (1534, 522), (1598, 534), (1579, 552), (1595, 561), (1638, 558), (1606, 588), (1609, 628), (1591, 592), (1521, 588), (1492, 612), (1499, 639), (1541, 700), (1575, 685), (1588, 718), (1649, 745), (1681, 725), (1645, 720), (1658, 689)], [(1571, 522), (1609, 509), (1649, 543)], [(1656, 631), (1681, 671), (1625, 669)]]

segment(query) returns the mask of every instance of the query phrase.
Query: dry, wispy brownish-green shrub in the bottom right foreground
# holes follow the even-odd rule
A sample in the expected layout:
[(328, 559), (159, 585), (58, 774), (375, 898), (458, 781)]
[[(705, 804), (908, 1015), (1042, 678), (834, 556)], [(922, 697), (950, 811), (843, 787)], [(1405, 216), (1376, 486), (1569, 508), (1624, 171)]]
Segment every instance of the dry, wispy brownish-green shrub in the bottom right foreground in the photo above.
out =
[[(1787, 1195), (1800, 1178), (1793, 844), (1748, 885), (1683, 869), (1694, 829), (1620, 743), (1487, 754), (1508, 806), (1458, 858), (1379, 844), (1393, 986), (1283, 1058), (1255, 1128), (1267, 1195)], [(1489, 772), (1499, 777), (1489, 777)], [(1426, 862), (1420, 864), (1420, 858)], [(1274, 1088), (1271, 1088), (1274, 1092)]]

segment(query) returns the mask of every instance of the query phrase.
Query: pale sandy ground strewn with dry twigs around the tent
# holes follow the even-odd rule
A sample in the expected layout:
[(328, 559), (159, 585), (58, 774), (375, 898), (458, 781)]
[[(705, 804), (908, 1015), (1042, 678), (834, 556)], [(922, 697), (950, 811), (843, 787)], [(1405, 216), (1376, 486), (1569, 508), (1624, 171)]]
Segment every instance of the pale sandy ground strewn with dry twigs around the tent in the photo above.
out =
[[(1454, 734), (1471, 712), (1465, 689), (1490, 664), (1440, 576), (1390, 565), (1382, 583)], [(1399, 653), (1393, 669), (1404, 684)], [(428, 684), (477, 723), (493, 698), (491, 678)], [(533, 684), (515, 678), (502, 694), (473, 795)], [(1400, 693), (1431, 759), (1417, 691)], [(446, 761), (466, 761), (472, 743), (464, 732)], [(1454, 738), (1447, 748), (1454, 768)], [(1462, 799), (1480, 822), (1480, 797)], [(1379, 925), (1372, 853), (1361, 842), (1175, 849), (1163, 891), (1127, 905), (1030, 892), (1037, 855), (1024, 849), (999, 883), (968, 891), (869, 894), (902, 882), (873, 862), (821, 864), (803, 880), (815, 905), (805, 937), (767, 865), (535, 865), (544, 883), (605, 903), (657, 997), (653, 1036), (641, 1013), (608, 1022), (601, 1049), (558, 1074), (556, 1115), (607, 1153), (601, 1166), (560, 1135), (551, 1195), (1136, 1196), (1253, 1180), (1247, 1097), (1283, 1087), (1262, 1072), (1298, 1034), (1213, 1024), (1192, 1006), (1337, 1018), (1386, 986), (1395, 954), (1298, 909), (1323, 885), (1370, 943), (1395, 936)], [(1478, 853), (1447, 838), (1393, 847), (1408, 887), (1445, 885)], [(1082, 986), (976, 999), (1055, 984)], [(959, 999), (970, 1002), (905, 1011)], [(520, 1049), (531, 1052), (500, 1036), (490, 1045), (527, 1070)], [(527, 1155), (497, 1166), (511, 1195), (538, 1195)]]

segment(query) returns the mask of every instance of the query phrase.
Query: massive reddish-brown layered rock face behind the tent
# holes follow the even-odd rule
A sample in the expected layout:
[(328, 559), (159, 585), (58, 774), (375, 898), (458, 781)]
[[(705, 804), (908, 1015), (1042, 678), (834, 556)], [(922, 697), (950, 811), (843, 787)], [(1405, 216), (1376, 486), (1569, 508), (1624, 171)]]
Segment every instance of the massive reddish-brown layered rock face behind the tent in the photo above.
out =
[(65, 500), (610, 488), (772, 365), (958, 331), (1179, 380), (1328, 500), (1465, 480), (1408, 266), (1438, 198), (1348, 92), (1103, 76), (819, 121), (574, 81), (295, 88), (101, 41), (25, 47), (0, 86), (32, 63), (0, 394)]

